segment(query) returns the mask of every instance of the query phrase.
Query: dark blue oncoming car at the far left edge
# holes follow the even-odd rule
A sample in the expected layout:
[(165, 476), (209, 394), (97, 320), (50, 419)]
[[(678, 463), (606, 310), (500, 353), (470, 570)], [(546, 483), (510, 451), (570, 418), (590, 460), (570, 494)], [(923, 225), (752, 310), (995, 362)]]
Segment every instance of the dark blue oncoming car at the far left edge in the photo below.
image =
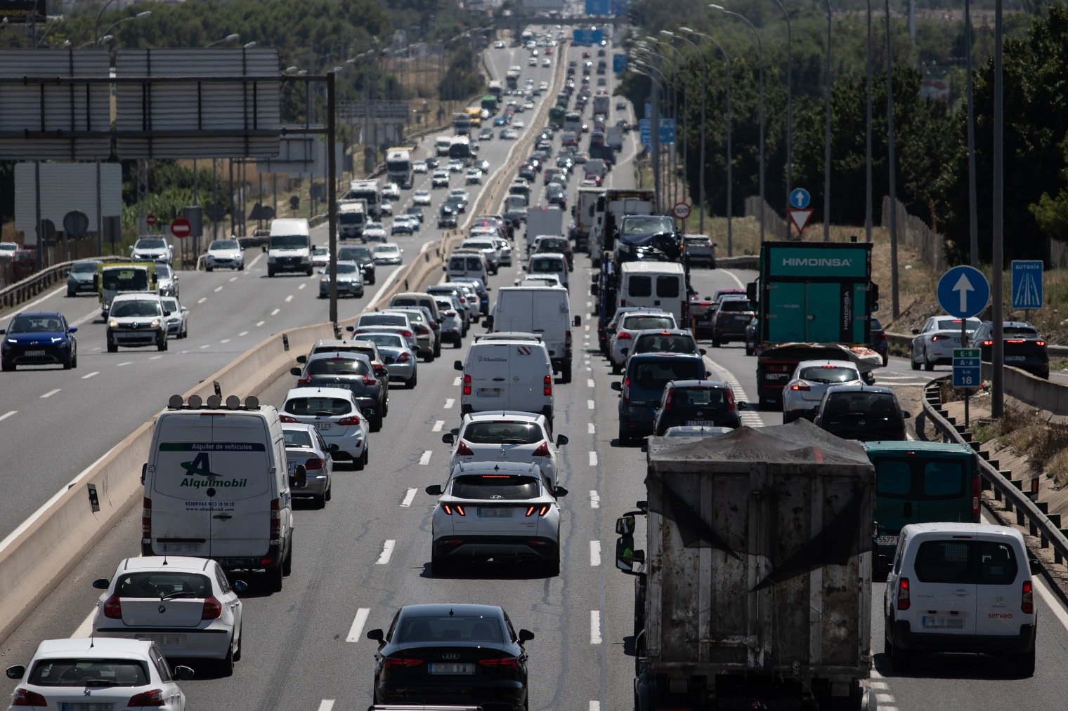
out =
[(62, 365), (78, 367), (78, 329), (63, 314), (41, 312), (16, 314), (6, 329), (0, 329), (0, 366), (14, 370), (18, 365)]

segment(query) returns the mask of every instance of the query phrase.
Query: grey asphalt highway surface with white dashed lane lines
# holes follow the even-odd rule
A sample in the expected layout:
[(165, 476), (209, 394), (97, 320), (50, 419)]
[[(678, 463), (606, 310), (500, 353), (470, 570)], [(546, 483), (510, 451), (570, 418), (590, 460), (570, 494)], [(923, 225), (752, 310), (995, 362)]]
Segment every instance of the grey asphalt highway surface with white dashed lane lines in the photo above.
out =
[[(577, 58), (579, 51), (569, 49), (568, 58)], [(492, 51), (494, 65), (522, 64), (536, 81), (538, 76), (548, 77), (548, 69), (538, 67), (534, 73), (524, 61), (513, 61), (513, 53)], [(517, 57), (523, 59), (525, 52)], [(634, 187), (630, 159), (635, 140), (637, 135), (628, 135), (625, 160), (608, 179), (611, 187)], [(484, 144), (482, 157), (496, 168), (507, 148), (511, 144), (494, 139)], [(417, 189), (428, 176), (418, 177)], [(570, 188), (577, 183), (572, 178)], [(536, 194), (540, 192), (538, 186)], [(436, 195), (436, 203), (439, 200)], [(428, 219), (430, 214), (427, 210)], [(316, 234), (321, 235), (321, 228)], [(424, 228), (420, 236), (402, 240), (406, 257), (436, 234)], [(521, 248), (516, 265), (520, 256)], [(314, 279), (268, 280), (263, 262), (245, 273), (184, 272), (190, 337), (172, 341), (164, 353), (101, 352), (103, 326), (93, 322), (98, 312), (89, 299), (52, 295), (35, 306), (62, 309), (85, 330), (79, 332), (77, 370), (47, 375), (27, 370), (4, 374), (2, 379), (0, 415), (16, 411), (0, 429), (9, 480), (21, 472), (26, 472), (22, 479), (31, 480), (0, 501), (5, 531), (151, 418), (170, 394), (185, 391), (270, 333), (325, 320), (326, 302), (315, 298)], [(554, 391), (555, 430), (570, 440), (561, 448), (560, 460), (560, 484), (569, 490), (562, 500), (560, 576), (546, 579), (536, 570), (511, 566), (443, 578), (429, 572), (435, 500), (423, 488), (444, 480), (449, 449), (441, 432), (459, 424), (459, 383), (452, 361), (464, 351), (453, 356), (446, 349), (436, 362), (420, 364), (418, 389), (391, 391), (391, 416), (372, 436), (368, 468), (336, 472), (333, 499), (325, 509), (298, 504), (293, 576), (273, 595), (255, 576), (250, 579), (242, 659), (230, 678), (198, 666), (197, 678), (182, 684), (190, 709), (362, 711), (371, 702), (375, 649), (366, 631), (388, 627), (399, 606), (418, 602), (500, 604), (517, 627), (532, 630), (536, 638), (527, 645), (531, 709), (631, 708), (632, 579), (614, 569), (614, 526), (617, 516), (645, 497), (644, 453), (615, 441), (617, 395), (611, 383), (616, 378), (597, 350), (596, 321), (590, 317), (590, 297), (581, 286), (588, 283), (588, 268), (585, 255), (577, 255), (571, 311), (582, 316), (576, 338), (581, 357), (576, 360), (574, 381), (567, 385), (557, 381)], [(504, 268), (491, 285), (494, 289), (511, 285), (518, 273), (517, 267)], [(380, 272), (379, 284), (383, 276), (388, 274)], [(694, 270), (692, 280), (705, 295), (753, 276), (744, 271)], [(343, 301), (342, 319), (351, 318), (376, 288), (368, 289), (363, 300)], [(481, 327), (473, 330), (481, 331)], [(755, 361), (744, 356), (741, 345), (705, 348), (713, 377), (728, 380), (738, 399), (755, 399)], [(87, 378), (91, 373), (97, 375)], [(876, 377), (894, 386), (926, 381), (925, 374), (909, 370), (907, 361), (897, 358)], [(280, 405), (293, 380), (285, 376), (271, 383), (258, 393), (261, 400)], [(42, 397), (56, 389), (59, 392)], [(745, 413), (750, 425), (780, 422), (776, 413)], [(47, 424), (42, 427), (43, 423)], [(54, 446), (59, 437), (66, 446)], [(139, 526), (136, 508), (7, 639), (0, 650), (3, 666), (28, 661), (40, 639), (85, 634), (87, 616), (97, 596), (90, 584), (109, 576), (122, 557), (138, 554)], [(1024, 699), (1037, 708), (1062, 708), (1068, 697), (1068, 681), (1062, 674), (1068, 620), (1059, 604), (1051, 607), (1048, 595), (1038, 598), (1039, 662), (1034, 678), (1007, 677), (998, 660), (972, 655), (931, 658), (920, 672), (895, 676), (881, 654), (882, 585), (874, 584), (871, 639), (879, 708), (1009, 708)], [(3, 679), (0, 693), (14, 685)]]

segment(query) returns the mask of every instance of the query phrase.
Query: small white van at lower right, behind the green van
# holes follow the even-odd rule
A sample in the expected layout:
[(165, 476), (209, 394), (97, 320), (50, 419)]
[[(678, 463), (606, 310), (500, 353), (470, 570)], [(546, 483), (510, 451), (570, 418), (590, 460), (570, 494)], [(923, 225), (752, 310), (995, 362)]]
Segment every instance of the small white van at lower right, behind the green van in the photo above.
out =
[(883, 603), (884, 651), (894, 670), (924, 652), (979, 652), (1004, 654), (1020, 676), (1033, 676), (1038, 618), (1031, 568), (1016, 528), (901, 528)]

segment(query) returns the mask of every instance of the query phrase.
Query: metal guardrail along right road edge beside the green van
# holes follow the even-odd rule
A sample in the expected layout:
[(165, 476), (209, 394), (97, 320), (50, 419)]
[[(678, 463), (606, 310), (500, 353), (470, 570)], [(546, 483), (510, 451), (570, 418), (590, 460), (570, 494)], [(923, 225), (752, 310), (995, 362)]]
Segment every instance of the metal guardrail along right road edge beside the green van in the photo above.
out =
[(996, 461), (989, 461), (988, 455), (973, 442), (971, 433), (963, 425), (958, 425), (942, 407), (942, 385), (951, 376), (931, 380), (924, 388), (924, 415), (934, 428), (957, 444), (967, 444), (979, 454), (979, 473), (983, 488), (992, 491), (995, 501), (1005, 505), (1007, 512), (1016, 512), (1016, 523), (1027, 526), (1032, 536), (1039, 539), (1040, 548), (1053, 549), (1053, 562), (1061, 564), (1068, 558), (1068, 528), (1061, 527), (1061, 515), (1049, 512), (1048, 502), (1034, 502), (1023, 491), (1023, 481), (1012, 478), (1012, 472), (1001, 471)]

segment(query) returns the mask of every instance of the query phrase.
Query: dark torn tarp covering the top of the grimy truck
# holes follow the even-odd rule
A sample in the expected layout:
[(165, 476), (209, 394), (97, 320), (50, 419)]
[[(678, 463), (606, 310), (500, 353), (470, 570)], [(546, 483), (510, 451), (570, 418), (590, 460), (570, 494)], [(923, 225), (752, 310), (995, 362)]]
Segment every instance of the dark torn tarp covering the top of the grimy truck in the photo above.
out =
[[(861, 520), (865, 512), (871, 511), (875, 479), (867, 454), (858, 442), (835, 437), (807, 420), (773, 427), (740, 427), (714, 438), (653, 438), (648, 462), (649, 478), (661, 479), (663, 487), (663, 500), (650, 501), (650, 508), (675, 524), (685, 548), (714, 548), (735, 558), (743, 554), (767, 558), (771, 570), (754, 590), (828, 565), (846, 565), (850, 557), (871, 550), (869, 533), (858, 535), (858, 532), (869, 532), (873, 526), (871, 521)], [(722, 506), (703, 506), (672, 481), (673, 473), (707, 473), (709, 477), (733, 474), (737, 477), (742, 472), (749, 472), (750, 480), (755, 483), (748, 491), (751, 501), (769, 502), (771, 515), (760, 517), (765, 528), (763, 535), (754, 536), (744, 526), (717, 525), (714, 514), (712, 520), (706, 520), (701, 515), (702, 509), (722, 512)], [(835, 480), (835, 486), (827, 489), (823, 526), (814, 536), (802, 537), (808, 539), (800, 546), (784, 549), (784, 542), (801, 539), (798, 531), (783, 531), (781, 526), (807, 525), (810, 512), (807, 509), (801, 512), (799, 507), (803, 502), (778, 501), (787, 493), (785, 488), (779, 490), (778, 486), (788, 477), (814, 475)], [(845, 488), (843, 477), (847, 479)], [(678, 480), (692, 480), (692, 477), (684, 475)], [(651, 484), (646, 481), (647, 486)], [(722, 493), (729, 495), (725, 491)], [(739, 505), (742, 510), (747, 507), (745, 502)], [(791, 509), (792, 517), (788, 514)], [(748, 550), (751, 548), (755, 550)]]

